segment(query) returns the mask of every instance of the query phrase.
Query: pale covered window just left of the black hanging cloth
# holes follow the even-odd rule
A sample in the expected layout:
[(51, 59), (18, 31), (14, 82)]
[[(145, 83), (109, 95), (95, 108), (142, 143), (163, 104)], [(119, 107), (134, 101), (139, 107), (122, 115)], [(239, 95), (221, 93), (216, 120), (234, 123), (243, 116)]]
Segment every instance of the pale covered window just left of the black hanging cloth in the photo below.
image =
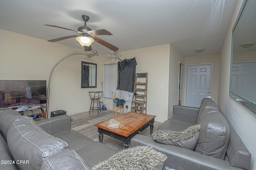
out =
[(116, 63), (103, 66), (103, 93), (106, 98), (113, 98), (116, 93)]

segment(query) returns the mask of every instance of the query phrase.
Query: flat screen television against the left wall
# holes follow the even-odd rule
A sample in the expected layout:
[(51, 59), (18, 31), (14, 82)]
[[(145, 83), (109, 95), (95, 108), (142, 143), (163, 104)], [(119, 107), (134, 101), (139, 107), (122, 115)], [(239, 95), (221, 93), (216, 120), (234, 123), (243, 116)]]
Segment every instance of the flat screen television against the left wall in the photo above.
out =
[(0, 80), (0, 109), (46, 103), (46, 80)]

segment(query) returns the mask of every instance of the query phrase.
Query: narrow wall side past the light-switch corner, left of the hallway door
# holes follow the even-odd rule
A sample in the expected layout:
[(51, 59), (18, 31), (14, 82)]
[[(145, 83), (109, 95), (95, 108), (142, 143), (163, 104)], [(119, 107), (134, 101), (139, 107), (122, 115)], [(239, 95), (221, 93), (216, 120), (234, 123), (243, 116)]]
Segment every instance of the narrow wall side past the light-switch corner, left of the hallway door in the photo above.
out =
[(184, 57), (170, 44), (168, 117), (172, 115), (173, 105), (178, 105), (180, 63), (184, 64)]

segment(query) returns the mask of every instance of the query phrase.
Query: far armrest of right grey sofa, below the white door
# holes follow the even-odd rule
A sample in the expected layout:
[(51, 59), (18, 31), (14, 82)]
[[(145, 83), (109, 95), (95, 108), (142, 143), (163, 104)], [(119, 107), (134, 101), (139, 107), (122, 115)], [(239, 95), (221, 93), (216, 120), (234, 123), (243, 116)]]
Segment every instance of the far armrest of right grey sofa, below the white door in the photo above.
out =
[(178, 114), (178, 115), (184, 115), (184, 116), (197, 118), (198, 113), (199, 113), (198, 107), (174, 105), (172, 108), (172, 114)]

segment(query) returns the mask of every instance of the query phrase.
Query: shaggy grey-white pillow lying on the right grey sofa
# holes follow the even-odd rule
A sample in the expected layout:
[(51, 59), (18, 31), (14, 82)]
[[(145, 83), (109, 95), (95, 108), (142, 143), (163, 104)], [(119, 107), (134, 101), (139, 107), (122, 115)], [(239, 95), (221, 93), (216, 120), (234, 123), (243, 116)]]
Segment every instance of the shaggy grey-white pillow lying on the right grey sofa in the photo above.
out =
[(198, 140), (199, 130), (200, 125), (188, 127), (186, 130), (180, 132), (171, 130), (156, 130), (156, 132), (152, 134), (152, 138), (159, 143), (171, 144), (194, 150)]

